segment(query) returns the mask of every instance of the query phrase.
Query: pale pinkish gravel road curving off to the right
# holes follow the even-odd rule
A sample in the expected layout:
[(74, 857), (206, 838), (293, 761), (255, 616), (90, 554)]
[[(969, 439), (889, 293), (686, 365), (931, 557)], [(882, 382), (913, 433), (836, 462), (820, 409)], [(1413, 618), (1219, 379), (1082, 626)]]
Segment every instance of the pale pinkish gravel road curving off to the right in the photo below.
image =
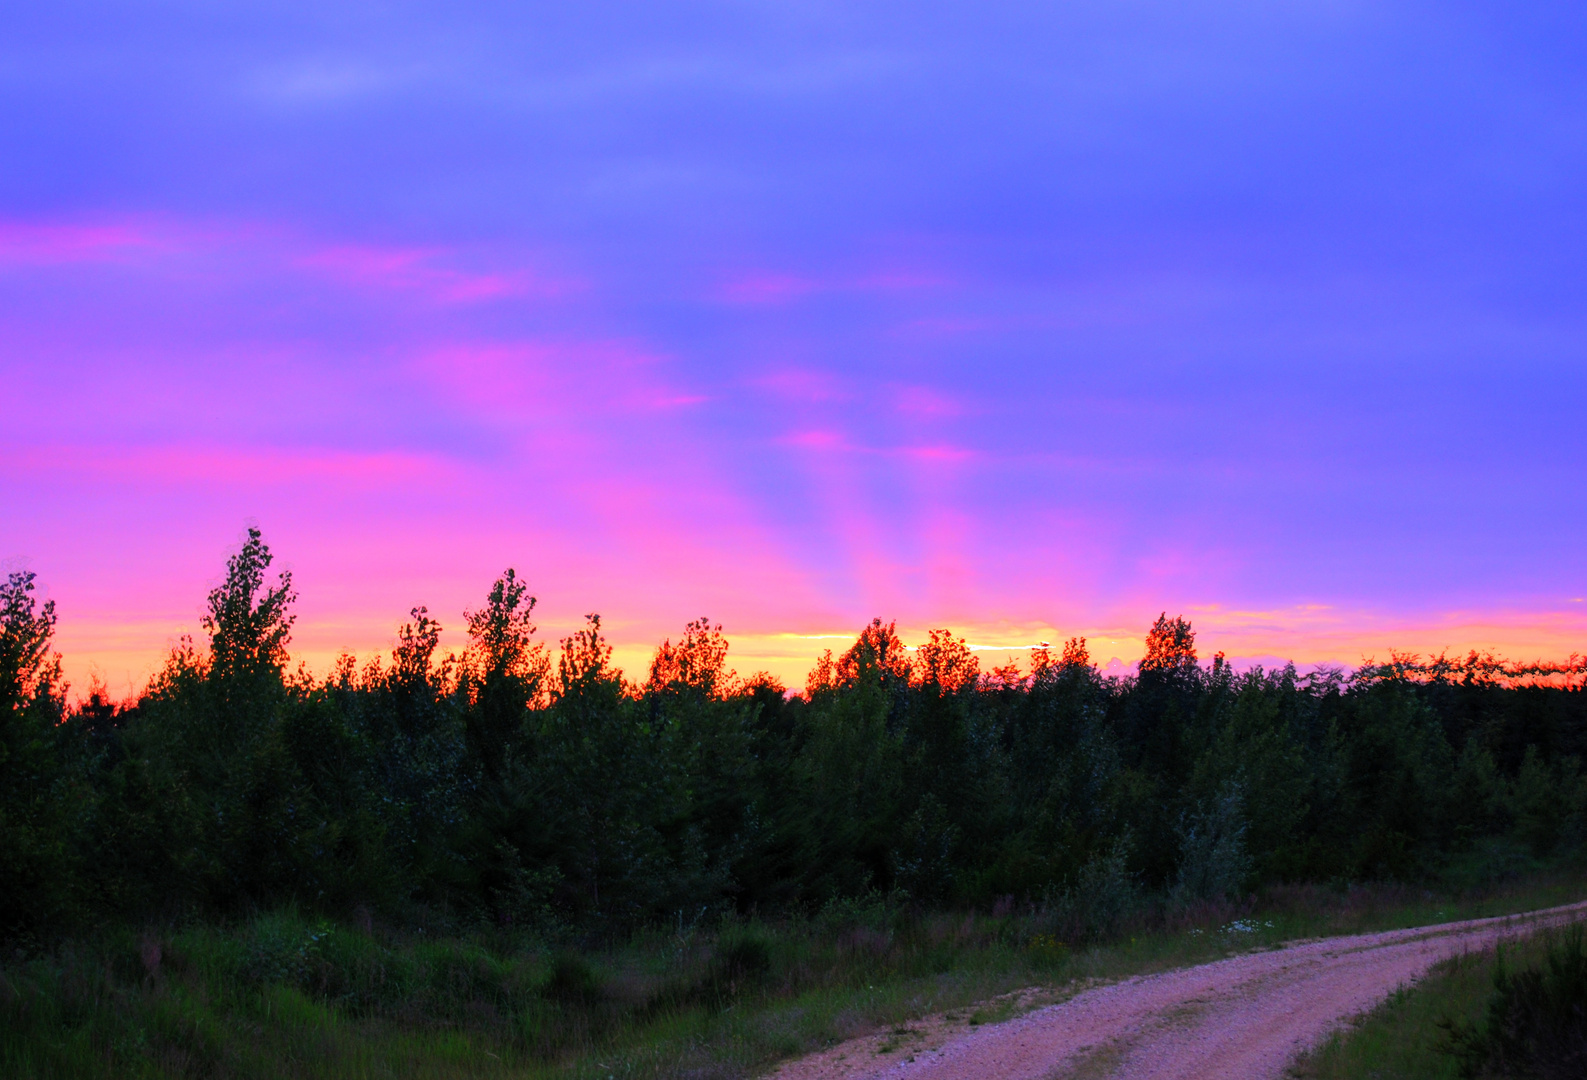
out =
[(998, 1024), (944, 1018), (855, 1039), (774, 1080), (1273, 1080), (1301, 1050), (1439, 959), (1587, 917), (1527, 915), (1328, 937), (1086, 990)]

